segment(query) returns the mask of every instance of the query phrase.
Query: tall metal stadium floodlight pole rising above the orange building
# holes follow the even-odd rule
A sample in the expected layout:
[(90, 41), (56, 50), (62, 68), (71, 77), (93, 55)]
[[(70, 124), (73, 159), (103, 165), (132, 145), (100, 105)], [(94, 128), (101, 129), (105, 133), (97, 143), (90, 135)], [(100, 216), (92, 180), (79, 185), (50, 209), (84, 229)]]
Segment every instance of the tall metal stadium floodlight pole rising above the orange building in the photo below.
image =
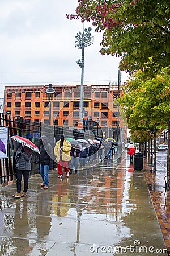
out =
[(82, 59), (78, 59), (76, 63), (79, 65), (79, 67), (82, 69), (82, 75), (81, 75), (81, 89), (80, 89), (80, 120), (83, 121), (83, 80), (84, 80), (84, 47), (90, 46), (94, 43), (94, 36), (91, 35), (91, 27), (88, 29), (85, 28), (84, 32), (79, 34), (77, 33), (77, 36), (75, 36), (75, 47), (78, 47), (79, 49), (82, 49)]

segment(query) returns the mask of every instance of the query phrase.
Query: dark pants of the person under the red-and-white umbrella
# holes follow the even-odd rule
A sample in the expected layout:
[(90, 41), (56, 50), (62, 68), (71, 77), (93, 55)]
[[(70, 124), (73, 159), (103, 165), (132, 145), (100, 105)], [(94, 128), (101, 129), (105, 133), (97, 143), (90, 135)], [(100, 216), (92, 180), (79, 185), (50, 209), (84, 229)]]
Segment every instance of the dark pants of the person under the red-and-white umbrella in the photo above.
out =
[(21, 192), (21, 181), (22, 176), (24, 178), (24, 192), (27, 193), (28, 190), (28, 179), (29, 179), (29, 170), (19, 170), (16, 169), (16, 190), (17, 193)]

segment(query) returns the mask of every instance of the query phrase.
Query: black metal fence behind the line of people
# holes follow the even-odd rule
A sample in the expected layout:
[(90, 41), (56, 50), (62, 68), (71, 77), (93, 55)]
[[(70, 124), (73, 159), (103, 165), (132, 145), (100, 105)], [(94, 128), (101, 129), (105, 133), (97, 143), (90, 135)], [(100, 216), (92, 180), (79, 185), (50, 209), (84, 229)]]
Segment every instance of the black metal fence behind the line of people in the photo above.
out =
[[(62, 133), (66, 134), (66, 137), (71, 137), (75, 139), (84, 138), (83, 133), (79, 131), (71, 131), (69, 129), (63, 130), (62, 127), (42, 125), (42, 123), (36, 123), (33, 121), (28, 121), (22, 117), (12, 117), (11, 115), (0, 113), (0, 127), (8, 128), (8, 138), (7, 138), (7, 158), (0, 159), (0, 182), (1, 185), (8, 183), (16, 179), (16, 168), (15, 168), (15, 154), (20, 147), (20, 143), (12, 140), (10, 137), (12, 135), (19, 135), (24, 138), (28, 138), (37, 147), (40, 146), (40, 137), (43, 131), (43, 134), (46, 133), (47, 137), (53, 137), (52, 146), (56, 141), (58, 141)], [(74, 137), (73, 137), (74, 136)], [(52, 140), (50, 140), (52, 142)], [(37, 153), (33, 152), (32, 157), (32, 170), (30, 175), (39, 173), (39, 164), (36, 164), (35, 160), (37, 158)]]

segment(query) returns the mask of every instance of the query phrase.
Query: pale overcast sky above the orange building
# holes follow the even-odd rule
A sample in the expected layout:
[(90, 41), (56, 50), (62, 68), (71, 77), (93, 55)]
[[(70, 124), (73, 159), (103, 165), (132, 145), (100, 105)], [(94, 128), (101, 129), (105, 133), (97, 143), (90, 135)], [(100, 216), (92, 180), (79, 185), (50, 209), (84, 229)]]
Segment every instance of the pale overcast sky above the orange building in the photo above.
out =
[[(68, 20), (77, 0), (0, 0), (0, 97), (4, 85), (80, 84), (75, 48), (80, 20)], [(84, 28), (92, 27), (84, 23)], [(84, 84), (118, 81), (120, 59), (100, 55), (102, 34), (92, 27), (94, 44), (84, 49)], [(123, 73), (125, 81), (128, 75)]]

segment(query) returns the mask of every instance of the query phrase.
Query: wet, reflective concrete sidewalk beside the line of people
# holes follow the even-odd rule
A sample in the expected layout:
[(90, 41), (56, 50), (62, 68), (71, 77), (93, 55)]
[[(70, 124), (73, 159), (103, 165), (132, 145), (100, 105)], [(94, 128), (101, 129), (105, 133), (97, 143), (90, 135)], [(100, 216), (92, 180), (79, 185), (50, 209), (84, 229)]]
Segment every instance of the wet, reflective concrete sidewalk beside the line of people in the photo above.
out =
[(22, 199), (15, 183), (1, 188), (1, 256), (167, 255), (145, 175), (126, 154), (40, 184), (30, 177)]

